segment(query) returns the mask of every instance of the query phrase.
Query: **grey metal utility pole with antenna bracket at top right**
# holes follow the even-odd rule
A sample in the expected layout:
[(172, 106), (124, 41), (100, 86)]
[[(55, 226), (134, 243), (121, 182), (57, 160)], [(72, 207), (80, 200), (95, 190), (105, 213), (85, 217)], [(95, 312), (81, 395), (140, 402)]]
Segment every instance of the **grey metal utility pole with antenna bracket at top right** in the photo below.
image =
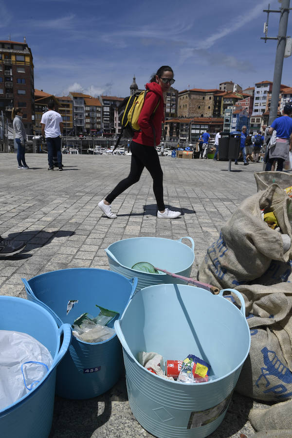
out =
[[(278, 11), (277, 10), (275, 10), (275, 11), (270, 10), (270, 5), (269, 5), (269, 9), (263, 11), (263, 12), (267, 12), (268, 19), (267, 19), (267, 23), (265, 23), (265, 26), (264, 26), (265, 37), (262, 37), (261, 39), (264, 39), (265, 42), (267, 42), (267, 39), (276, 39), (277, 40), (277, 50), (276, 50), (275, 65), (274, 65), (274, 78), (273, 78), (273, 90), (272, 90), (272, 98), (271, 98), (271, 105), (270, 105), (269, 125), (272, 125), (272, 123), (274, 122), (274, 119), (277, 117), (277, 112), (278, 112), (279, 94), (280, 94), (280, 86), (281, 86), (282, 70), (283, 70), (283, 60), (284, 60), (285, 46), (286, 46), (286, 40), (287, 40), (286, 33), (287, 33), (289, 10), (290, 10), (290, 0), (281, 0), (280, 10), (278, 10)], [(269, 14), (271, 12), (280, 14), (279, 30), (278, 30), (277, 37), (267, 37)]]

